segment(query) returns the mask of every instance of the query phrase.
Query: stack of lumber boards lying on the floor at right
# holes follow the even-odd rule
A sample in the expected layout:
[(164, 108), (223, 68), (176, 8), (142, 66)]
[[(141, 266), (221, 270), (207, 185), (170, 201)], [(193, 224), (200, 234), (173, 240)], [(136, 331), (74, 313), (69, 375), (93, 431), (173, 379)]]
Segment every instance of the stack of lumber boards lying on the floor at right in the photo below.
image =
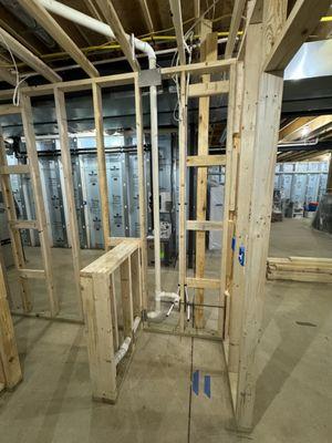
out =
[(268, 280), (332, 284), (332, 259), (317, 257), (268, 258)]

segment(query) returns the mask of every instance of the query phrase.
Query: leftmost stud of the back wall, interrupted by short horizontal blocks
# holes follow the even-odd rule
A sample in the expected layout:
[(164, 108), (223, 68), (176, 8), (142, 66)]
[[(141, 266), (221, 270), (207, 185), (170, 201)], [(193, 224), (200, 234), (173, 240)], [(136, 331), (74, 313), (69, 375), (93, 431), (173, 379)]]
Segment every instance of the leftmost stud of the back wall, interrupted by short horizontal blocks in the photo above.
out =
[[(0, 165), (2, 167), (8, 166), (1, 125), (0, 125)], [(1, 183), (3, 202), (6, 205), (7, 219), (8, 222), (14, 222), (17, 219), (17, 212), (15, 212), (15, 204), (12, 195), (11, 182), (9, 175), (0, 175), (0, 183)], [(15, 268), (22, 269), (25, 266), (25, 258), (22, 248), (21, 235), (17, 229), (9, 229), (9, 235), (10, 235)], [(22, 308), (24, 312), (29, 312), (32, 309), (30, 288), (28, 282), (21, 277), (19, 278), (19, 282), (20, 282)]]

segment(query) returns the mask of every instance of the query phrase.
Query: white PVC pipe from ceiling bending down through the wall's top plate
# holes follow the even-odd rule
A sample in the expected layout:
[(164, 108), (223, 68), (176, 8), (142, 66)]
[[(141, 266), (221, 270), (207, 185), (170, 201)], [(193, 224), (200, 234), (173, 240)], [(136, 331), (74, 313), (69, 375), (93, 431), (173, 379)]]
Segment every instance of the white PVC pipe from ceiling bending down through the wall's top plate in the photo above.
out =
[[(76, 9), (70, 8), (55, 0), (38, 0), (50, 12), (64, 17), (82, 27), (89, 28), (97, 33), (115, 39), (111, 27), (90, 16), (86, 16)], [(127, 39), (131, 39), (126, 34)], [(156, 54), (154, 49), (147, 43), (133, 39), (134, 45), (138, 51), (144, 52), (148, 56), (148, 68), (156, 68)], [(160, 272), (160, 216), (159, 216), (159, 158), (158, 158), (158, 110), (157, 110), (157, 89), (149, 87), (149, 106), (151, 106), (151, 144), (153, 161), (153, 203), (154, 203), (154, 253), (155, 253), (155, 299), (156, 311), (160, 312), (160, 299), (158, 297), (162, 291), (162, 272)]]

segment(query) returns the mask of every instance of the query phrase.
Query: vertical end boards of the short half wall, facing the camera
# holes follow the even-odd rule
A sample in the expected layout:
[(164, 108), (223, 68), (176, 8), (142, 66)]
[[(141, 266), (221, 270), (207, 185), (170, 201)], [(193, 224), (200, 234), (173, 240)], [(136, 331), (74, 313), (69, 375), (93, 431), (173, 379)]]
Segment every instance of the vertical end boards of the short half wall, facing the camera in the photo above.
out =
[(117, 389), (110, 276), (81, 278), (81, 285), (92, 396), (115, 403)]

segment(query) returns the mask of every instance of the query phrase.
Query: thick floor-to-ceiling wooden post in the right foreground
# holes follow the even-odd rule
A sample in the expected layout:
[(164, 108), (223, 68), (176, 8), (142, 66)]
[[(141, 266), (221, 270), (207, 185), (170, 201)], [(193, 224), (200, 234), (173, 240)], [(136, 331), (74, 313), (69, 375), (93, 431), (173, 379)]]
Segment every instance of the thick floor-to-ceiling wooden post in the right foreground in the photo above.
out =
[[(248, 199), (249, 207), (247, 206), (243, 214), (247, 222), (246, 236), (237, 238), (237, 250), (239, 250), (242, 259), (235, 260), (235, 266), (237, 269), (241, 268), (241, 274), (245, 277), (240, 279), (242, 302), (239, 303), (241, 327), (236, 401), (237, 423), (242, 430), (248, 430), (252, 425), (257, 380), (255, 357), (261, 334), (266, 264), (283, 87), (283, 78), (262, 72), (262, 64), (284, 21), (286, 8), (280, 8), (280, 4), (277, 4), (273, 0), (268, 0), (263, 7), (262, 24), (253, 25), (256, 28), (253, 33), (257, 32), (255, 41), (251, 39), (252, 35), (251, 38), (249, 34), (247, 35), (249, 41), (246, 48), (245, 70), (250, 62), (249, 59), (255, 58), (255, 52), (260, 52), (260, 54), (257, 66), (251, 69), (251, 73), (255, 74), (252, 83), (248, 82), (250, 78), (247, 76), (246, 79), (245, 94), (249, 93), (250, 84), (253, 85), (256, 94), (251, 96), (251, 104), (247, 102), (253, 112), (250, 113), (251, 128), (248, 127), (247, 133), (242, 132), (241, 156), (245, 155), (246, 158), (246, 151), (249, 148), (252, 162), (249, 164), (249, 177), (247, 176), (249, 181), (247, 183), (240, 181), (239, 183), (239, 215), (241, 205), (243, 205), (243, 196)], [(261, 39), (261, 51), (258, 51), (259, 39)], [(243, 120), (247, 112), (248, 109), (243, 106)], [(243, 172), (243, 166), (240, 161), (240, 175)], [(234, 348), (234, 343), (230, 344), (230, 348)]]

